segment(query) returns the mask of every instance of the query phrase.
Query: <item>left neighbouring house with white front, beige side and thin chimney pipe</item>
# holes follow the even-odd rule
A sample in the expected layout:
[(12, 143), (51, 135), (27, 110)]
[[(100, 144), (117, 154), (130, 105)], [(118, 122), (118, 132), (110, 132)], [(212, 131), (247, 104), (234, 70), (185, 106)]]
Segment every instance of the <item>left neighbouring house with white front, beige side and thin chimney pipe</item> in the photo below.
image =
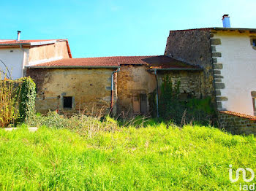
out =
[(2, 78), (18, 79), (26, 76), (25, 66), (62, 58), (72, 58), (67, 39), (22, 40), (18, 31), (16, 40), (0, 40)]

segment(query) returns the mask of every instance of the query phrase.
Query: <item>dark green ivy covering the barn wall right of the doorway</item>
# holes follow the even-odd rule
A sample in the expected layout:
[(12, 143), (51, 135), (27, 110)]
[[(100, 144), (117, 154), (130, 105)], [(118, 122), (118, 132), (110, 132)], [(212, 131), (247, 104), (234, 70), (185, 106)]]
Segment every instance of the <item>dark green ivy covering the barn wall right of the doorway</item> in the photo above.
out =
[[(159, 93), (159, 117), (163, 120), (172, 120), (177, 125), (192, 121), (200, 122), (202, 125), (211, 124), (215, 114), (211, 98), (187, 98), (186, 101), (181, 101), (180, 85), (179, 80), (173, 82), (168, 74), (162, 79), (161, 93)], [(154, 116), (156, 116), (155, 98), (156, 91), (148, 98)]]

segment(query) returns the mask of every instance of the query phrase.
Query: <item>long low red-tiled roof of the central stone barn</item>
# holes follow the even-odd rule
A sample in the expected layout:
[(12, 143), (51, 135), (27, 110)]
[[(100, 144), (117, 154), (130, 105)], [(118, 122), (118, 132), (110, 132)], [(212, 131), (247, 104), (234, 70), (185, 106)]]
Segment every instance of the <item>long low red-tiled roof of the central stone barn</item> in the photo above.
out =
[(58, 61), (39, 63), (31, 68), (96, 68), (96, 67), (119, 67), (120, 65), (146, 65), (150, 69), (200, 69), (187, 63), (176, 61), (166, 55), (147, 56), (113, 56), (97, 58), (64, 58)]

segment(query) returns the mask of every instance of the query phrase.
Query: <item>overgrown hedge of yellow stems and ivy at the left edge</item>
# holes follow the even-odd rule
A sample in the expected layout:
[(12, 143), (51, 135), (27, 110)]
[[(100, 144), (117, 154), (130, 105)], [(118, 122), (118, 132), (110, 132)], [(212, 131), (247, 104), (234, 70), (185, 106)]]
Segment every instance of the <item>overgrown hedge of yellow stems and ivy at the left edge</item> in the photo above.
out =
[[(0, 76), (1, 78), (1, 76)], [(36, 85), (30, 77), (0, 82), (0, 127), (28, 122), (34, 115)]]

